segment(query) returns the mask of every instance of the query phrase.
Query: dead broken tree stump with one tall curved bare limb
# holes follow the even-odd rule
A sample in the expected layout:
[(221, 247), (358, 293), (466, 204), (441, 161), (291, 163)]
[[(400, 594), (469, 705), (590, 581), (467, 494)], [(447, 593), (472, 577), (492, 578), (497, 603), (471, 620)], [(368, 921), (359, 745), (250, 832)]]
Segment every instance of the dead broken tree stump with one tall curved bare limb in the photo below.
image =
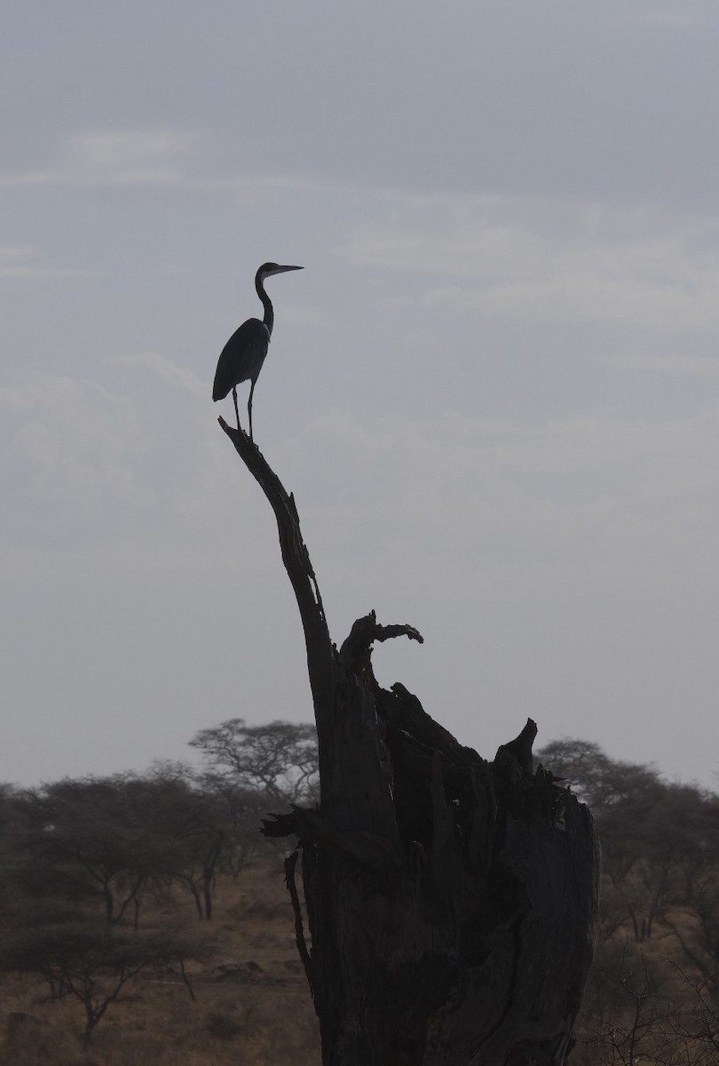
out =
[(557, 1066), (591, 963), (599, 854), (586, 807), (534, 772), (530, 720), (492, 762), (462, 746), (372, 647), (409, 625), (359, 618), (338, 651), (288, 495), (220, 424), (273, 506), (297, 598), (321, 803), (266, 822), (298, 837), (311, 948), (287, 863), (324, 1066)]

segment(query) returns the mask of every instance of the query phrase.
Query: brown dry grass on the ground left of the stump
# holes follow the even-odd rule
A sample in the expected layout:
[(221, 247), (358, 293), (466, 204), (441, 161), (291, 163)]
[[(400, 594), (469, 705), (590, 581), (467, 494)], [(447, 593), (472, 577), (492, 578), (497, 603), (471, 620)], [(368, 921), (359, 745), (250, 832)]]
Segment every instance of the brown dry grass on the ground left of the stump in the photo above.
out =
[[(182, 894), (148, 906), (141, 922), (179, 925), (210, 944), (206, 962), (187, 966), (197, 1002), (179, 974), (141, 974), (83, 1051), (80, 1003), (50, 1000), (37, 978), (5, 978), (0, 1066), (317, 1066), (317, 1024), (279, 860), (223, 879), (210, 922)], [(33, 1017), (12, 1019), (14, 1012)]]

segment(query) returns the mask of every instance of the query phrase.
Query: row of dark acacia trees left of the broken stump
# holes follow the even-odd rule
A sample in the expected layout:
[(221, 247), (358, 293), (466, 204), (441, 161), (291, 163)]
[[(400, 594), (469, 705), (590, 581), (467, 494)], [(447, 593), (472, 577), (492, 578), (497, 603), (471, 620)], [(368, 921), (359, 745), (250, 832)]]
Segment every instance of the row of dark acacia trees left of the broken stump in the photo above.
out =
[(233, 718), (191, 744), (202, 770), (165, 762), (144, 775), (0, 787), (0, 967), (78, 1000), (85, 1045), (143, 971), (173, 968), (194, 996), (184, 964), (210, 938), (144, 930), (148, 901), (179, 888), (209, 922), (217, 878), (277, 850), (259, 833), (262, 818), (316, 788), (313, 726)]

